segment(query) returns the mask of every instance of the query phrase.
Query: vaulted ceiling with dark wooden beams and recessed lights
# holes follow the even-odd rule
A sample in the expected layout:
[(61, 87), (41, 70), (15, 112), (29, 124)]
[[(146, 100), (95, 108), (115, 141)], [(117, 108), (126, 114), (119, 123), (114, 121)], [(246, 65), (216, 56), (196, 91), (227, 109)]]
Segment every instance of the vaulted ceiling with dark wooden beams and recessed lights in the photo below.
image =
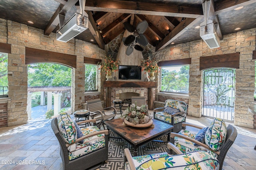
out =
[[(244, 6), (241, 10), (234, 10)], [(59, 29), (58, 14), (67, 21), (79, 9), (78, 0), (5, 0), (0, 1), (0, 18), (17, 21), (44, 30), (45, 35)], [(214, 0), (215, 14), (222, 35), (256, 27), (256, 0)], [(161, 50), (170, 43), (201, 39), (199, 29), (204, 21), (201, 0), (86, 0), (89, 29), (77, 39), (104, 45), (124, 33), (124, 22), (136, 26), (148, 22), (144, 33), (149, 43)], [(33, 21), (30, 24), (27, 21)], [(238, 30), (238, 31), (240, 31)]]

